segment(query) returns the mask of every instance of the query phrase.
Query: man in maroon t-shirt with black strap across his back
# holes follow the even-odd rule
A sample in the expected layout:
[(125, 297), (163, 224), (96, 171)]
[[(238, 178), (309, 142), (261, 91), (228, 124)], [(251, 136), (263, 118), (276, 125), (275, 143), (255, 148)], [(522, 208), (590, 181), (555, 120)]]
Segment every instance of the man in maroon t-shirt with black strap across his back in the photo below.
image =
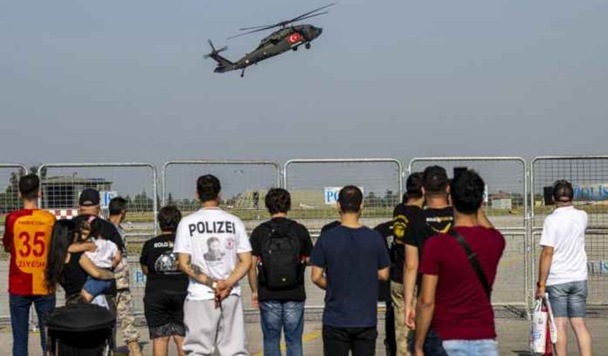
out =
[(450, 183), (455, 226), (424, 244), (414, 356), (498, 356), (491, 290), (505, 239), (486, 219), (476, 172)]

